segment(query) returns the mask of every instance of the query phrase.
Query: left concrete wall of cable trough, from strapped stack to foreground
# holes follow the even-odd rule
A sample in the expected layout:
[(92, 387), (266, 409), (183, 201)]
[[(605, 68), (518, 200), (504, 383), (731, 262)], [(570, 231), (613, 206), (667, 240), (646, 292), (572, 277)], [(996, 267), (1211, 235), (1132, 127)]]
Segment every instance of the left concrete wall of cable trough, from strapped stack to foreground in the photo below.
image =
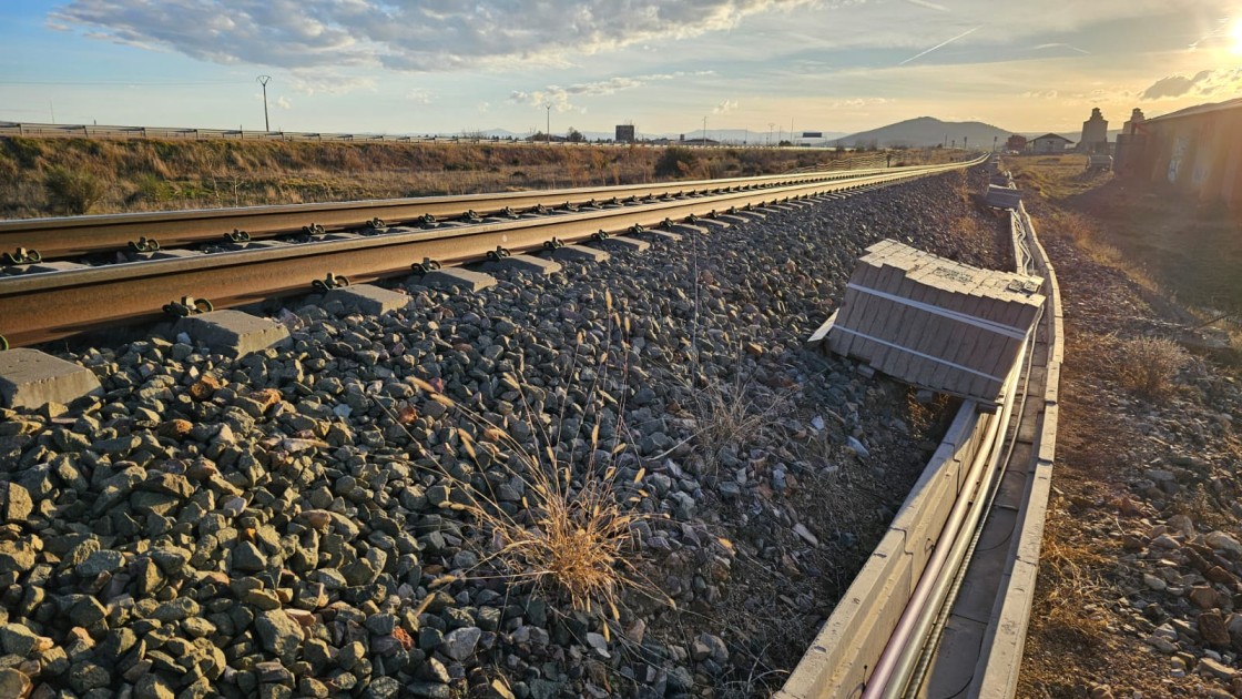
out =
[(927, 566), (927, 539), (936, 537), (961, 488), (961, 469), (979, 449), (989, 413), (963, 403), (892, 525), (774, 699), (856, 697), (871, 677)]

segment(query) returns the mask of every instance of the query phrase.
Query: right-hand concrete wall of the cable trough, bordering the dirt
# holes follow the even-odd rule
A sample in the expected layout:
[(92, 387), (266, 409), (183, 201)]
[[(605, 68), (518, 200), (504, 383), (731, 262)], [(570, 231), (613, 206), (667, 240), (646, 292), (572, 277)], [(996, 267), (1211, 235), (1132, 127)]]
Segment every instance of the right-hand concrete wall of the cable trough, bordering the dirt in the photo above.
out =
[(1031, 231), (1031, 252), (1036, 264), (1045, 272), (1048, 290), (1052, 338), (1048, 346), (1047, 379), (1045, 383), (1043, 424), (1037, 437), (1036, 454), (1031, 468), (1032, 478), (1027, 483), (1027, 496), (1018, 514), (1018, 535), (1010, 549), (1010, 563), (1006, 566), (1004, 588), (997, 595), (992, 608), (991, 623), (984, 634), (982, 653), (975, 670), (975, 682), (969, 697), (1013, 697), (1017, 693), (1018, 673), (1022, 668), (1022, 653), (1026, 648), (1026, 632), (1031, 621), (1031, 607), (1035, 602), (1035, 583), (1040, 571), (1040, 549), (1043, 544), (1043, 525), (1048, 511), (1048, 494), (1052, 489), (1052, 466), (1056, 459), (1057, 422), (1059, 418), (1061, 363), (1064, 358), (1064, 335), (1062, 325), (1061, 287), (1056, 271), (1048, 261), (1048, 254), (1035, 236), (1035, 224), (1018, 206), (1018, 216), (1025, 219)]

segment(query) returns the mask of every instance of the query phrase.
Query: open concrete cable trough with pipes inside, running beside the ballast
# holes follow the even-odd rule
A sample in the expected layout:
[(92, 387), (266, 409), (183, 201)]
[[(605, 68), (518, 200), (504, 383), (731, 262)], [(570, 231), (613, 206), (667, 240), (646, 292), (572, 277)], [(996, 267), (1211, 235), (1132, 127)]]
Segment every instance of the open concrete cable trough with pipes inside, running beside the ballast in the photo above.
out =
[(1045, 277), (1038, 333), (1013, 362), (996, 414), (963, 404), (781, 699), (1013, 695), (1056, 449), (1063, 346), (1056, 272), (1020, 200), (1010, 221), (1016, 269)]

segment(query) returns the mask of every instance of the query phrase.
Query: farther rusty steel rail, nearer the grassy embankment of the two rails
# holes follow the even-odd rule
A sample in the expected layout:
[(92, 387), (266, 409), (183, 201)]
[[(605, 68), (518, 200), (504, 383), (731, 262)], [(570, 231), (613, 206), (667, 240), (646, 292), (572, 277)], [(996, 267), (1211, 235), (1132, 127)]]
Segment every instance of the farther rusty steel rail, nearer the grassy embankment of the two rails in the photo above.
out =
[[(621, 187), (12, 219), (0, 220), (0, 252), (27, 249), (39, 251), (43, 260), (62, 260), (93, 252), (125, 250), (130, 243), (142, 239), (156, 240), (163, 248), (184, 248), (202, 243), (224, 243), (225, 236), (235, 230), (246, 231), (252, 239), (262, 239), (297, 233), (304, 226), (313, 225), (323, 226), (324, 230), (360, 229), (374, 219), (385, 224), (401, 224), (419, 220), (425, 215), (436, 219), (458, 218), (466, 211), (474, 211), (483, 216), (503, 215), (505, 209), (523, 211), (539, 205), (549, 208), (564, 204), (581, 206), (596, 199), (615, 198), (620, 200), (631, 197), (648, 199), (683, 197), (691, 193), (738, 192), (809, 182), (840, 182), (878, 173), (917, 172), (918, 169), (919, 165), (913, 165)], [(599, 204), (599, 201), (595, 203)]]

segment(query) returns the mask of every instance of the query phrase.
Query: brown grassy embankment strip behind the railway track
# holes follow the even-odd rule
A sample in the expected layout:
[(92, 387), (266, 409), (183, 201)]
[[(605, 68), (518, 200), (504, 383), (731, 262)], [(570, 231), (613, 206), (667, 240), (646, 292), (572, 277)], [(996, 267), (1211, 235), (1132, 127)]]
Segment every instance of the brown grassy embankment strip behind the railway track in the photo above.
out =
[[(390, 199), (653, 182), (664, 148), (530, 143), (303, 143), (0, 139), (0, 216), (60, 213), (53, 168), (106, 182), (96, 213)], [(673, 177), (743, 177), (827, 165), (827, 149), (709, 148)], [(912, 162), (936, 154), (910, 150)], [(104, 177), (106, 175), (106, 177)]]

